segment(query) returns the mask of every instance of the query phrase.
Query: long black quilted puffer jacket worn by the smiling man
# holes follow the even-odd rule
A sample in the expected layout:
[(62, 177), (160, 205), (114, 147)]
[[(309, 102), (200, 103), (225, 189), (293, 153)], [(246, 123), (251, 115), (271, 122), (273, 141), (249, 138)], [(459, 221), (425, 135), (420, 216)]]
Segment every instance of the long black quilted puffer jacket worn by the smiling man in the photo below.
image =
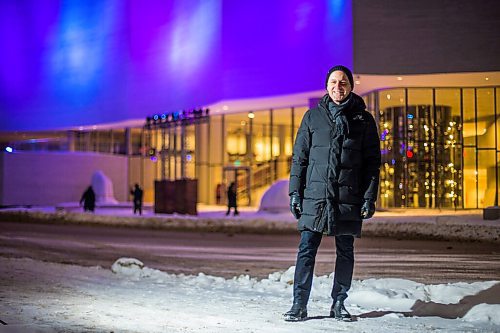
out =
[(303, 199), (299, 230), (361, 236), (361, 206), (377, 199), (380, 139), (361, 97), (343, 110), (349, 133), (340, 135), (325, 95), (302, 119), (293, 147), (289, 193)]

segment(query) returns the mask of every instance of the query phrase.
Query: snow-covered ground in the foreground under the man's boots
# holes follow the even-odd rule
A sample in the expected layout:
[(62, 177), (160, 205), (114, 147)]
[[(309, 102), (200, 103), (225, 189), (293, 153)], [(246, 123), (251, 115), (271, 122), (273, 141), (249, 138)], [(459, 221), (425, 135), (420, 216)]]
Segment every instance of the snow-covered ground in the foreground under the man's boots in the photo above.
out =
[[(320, 276), (310, 319), (288, 323), (281, 315), (291, 305), (293, 267), (262, 280), (173, 275), (133, 258), (80, 267), (0, 257), (0, 267), (0, 320), (8, 324), (0, 332), (500, 332), (499, 281), (356, 280), (346, 305), (358, 320), (338, 322), (327, 317), (332, 277)], [(435, 303), (460, 301), (470, 307), (465, 316), (439, 317), (460, 311)]]

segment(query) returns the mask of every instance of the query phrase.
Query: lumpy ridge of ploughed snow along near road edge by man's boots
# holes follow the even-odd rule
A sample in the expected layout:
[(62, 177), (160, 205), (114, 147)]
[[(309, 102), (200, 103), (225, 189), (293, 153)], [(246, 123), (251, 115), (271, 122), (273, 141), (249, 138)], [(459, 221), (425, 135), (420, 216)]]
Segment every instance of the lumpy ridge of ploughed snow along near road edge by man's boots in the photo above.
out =
[[(154, 283), (175, 282), (179, 286), (191, 286), (209, 290), (225, 290), (231, 294), (267, 295), (274, 296), (292, 293), (295, 266), (285, 272), (269, 274), (267, 279), (258, 280), (248, 275), (240, 275), (232, 279), (209, 276), (203, 273), (198, 275), (168, 274), (160, 270), (145, 267), (143, 263), (134, 258), (120, 258), (112, 265), (112, 271), (124, 278), (139, 281), (140, 279), (152, 280)], [(333, 273), (329, 276), (316, 276), (313, 280), (311, 303), (330, 302), (329, 294), (333, 281)], [(439, 285), (425, 285), (422, 283), (396, 278), (367, 279), (353, 281), (349, 293), (348, 308), (353, 314), (371, 311), (392, 311), (391, 317), (399, 318), (399, 313), (410, 312), (417, 300), (439, 304), (458, 303), (465, 296), (475, 295), (498, 284), (498, 281), (453, 283)], [(499, 299), (500, 303), (500, 299)], [(500, 325), (499, 316), (494, 313), (500, 310), (500, 304), (479, 304), (464, 316), (465, 321), (486, 322)], [(499, 327), (500, 329), (500, 327)]]

